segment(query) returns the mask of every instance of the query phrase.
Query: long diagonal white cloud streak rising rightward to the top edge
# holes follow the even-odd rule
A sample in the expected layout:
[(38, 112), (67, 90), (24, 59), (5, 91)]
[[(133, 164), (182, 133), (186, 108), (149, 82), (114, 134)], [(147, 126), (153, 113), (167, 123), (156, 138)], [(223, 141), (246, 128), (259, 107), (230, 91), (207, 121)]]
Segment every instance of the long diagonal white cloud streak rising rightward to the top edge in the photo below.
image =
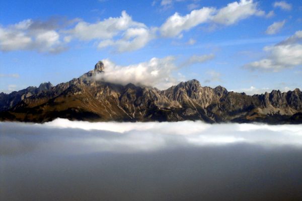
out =
[(183, 31), (188, 31), (203, 23), (232, 25), (251, 16), (264, 16), (265, 12), (258, 9), (253, 0), (240, 0), (221, 9), (203, 7), (193, 10), (190, 14), (181, 16), (175, 13), (161, 26), (160, 32), (164, 37), (176, 37)]

